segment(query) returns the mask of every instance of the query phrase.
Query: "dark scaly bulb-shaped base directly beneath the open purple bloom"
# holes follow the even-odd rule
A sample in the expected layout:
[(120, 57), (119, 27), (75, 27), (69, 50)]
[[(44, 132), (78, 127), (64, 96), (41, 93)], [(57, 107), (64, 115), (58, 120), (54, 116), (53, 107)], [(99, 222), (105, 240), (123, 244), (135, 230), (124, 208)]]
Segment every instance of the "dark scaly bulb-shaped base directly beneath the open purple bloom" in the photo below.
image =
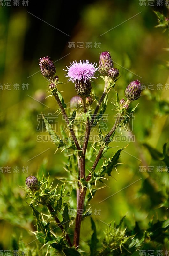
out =
[(76, 80), (75, 83), (75, 92), (78, 95), (88, 95), (92, 90), (91, 87), (91, 82), (89, 80), (86, 80), (86, 82), (84, 82), (83, 80)]

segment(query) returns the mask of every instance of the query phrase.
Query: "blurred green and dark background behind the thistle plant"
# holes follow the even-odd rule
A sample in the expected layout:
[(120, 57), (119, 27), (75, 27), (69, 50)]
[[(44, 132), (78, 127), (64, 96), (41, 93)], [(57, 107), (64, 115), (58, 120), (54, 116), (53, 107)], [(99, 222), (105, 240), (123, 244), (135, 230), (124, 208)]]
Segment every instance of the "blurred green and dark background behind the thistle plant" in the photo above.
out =
[[(74, 85), (67, 83), (63, 69), (75, 60), (98, 63), (102, 51), (111, 53), (114, 67), (120, 71), (121, 77), (116, 84), (120, 99), (124, 97), (124, 90), (130, 81), (141, 80), (146, 90), (137, 102), (132, 103), (134, 107), (139, 102), (132, 127), (134, 141), (114, 142), (106, 153), (108, 158), (117, 148), (128, 145), (119, 159), (119, 175), (115, 170), (113, 172), (116, 180), (110, 177), (105, 181), (107, 187), (99, 190), (91, 200), (93, 212), (101, 209), (101, 215), (93, 218), (105, 222), (98, 220), (100, 233), (106, 228), (106, 223), (111, 220), (118, 223), (124, 215), (131, 229), (135, 221), (140, 228), (147, 228), (150, 220), (167, 220), (169, 173), (166, 164), (152, 159), (143, 146), (143, 143), (148, 143), (162, 152), (163, 144), (168, 140), (168, 32), (163, 33), (163, 28), (154, 28), (158, 20), (153, 12), (164, 12), (167, 16), (166, 1), (162, 2), (162, 6), (158, 6), (158, 1), (154, 1), (154, 6), (148, 6), (148, 1), (142, 5), (143, 1), (137, 0), (85, 1), (78, 4), (64, 1), (36, 1), (35, 4), (29, 1), (27, 5), (25, 1), (25, 6), (22, 1), (19, 6), (14, 6), (14, 1), (11, 1), (11, 6), (2, 2), (0, 250), (11, 250), (12, 237), (18, 239), (22, 236), (25, 243), (34, 239), (30, 231), (34, 231), (35, 222), (21, 188), (25, 186), (26, 177), (36, 175), (42, 164), (46, 164), (44, 174), (48, 176), (49, 172), (55, 184), (59, 182), (57, 177), (66, 176), (62, 164), (65, 161), (63, 152), (58, 150), (55, 153), (55, 145), (42, 128), (41, 113), (50, 115), (57, 110), (55, 100), (46, 98), (49, 95), (48, 83), (41, 76), (38, 66), (42, 56), (50, 56), (55, 62), (56, 74), (65, 83), (59, 85), (59, 90), (66, 103), (76, 93)], [(70, 42), (74, 42), (71, 44), (74, 48), (70, 47)], [(90, 42), (90, 47), (86, 46), (86, 42)], [(101, 96), (103, 86), (100, 78), (92, 83), (98, 96)], [(114, 102), (115, 91), (112, 90), (106, 112), (109, 128), (116, 113)], [(61, 116), (58, 120), (64, 126)], [(57, 130), (57, 126), (55, 128)], [(122, 132), (127, 136), (127, 132)], [(41, 142), (39, 135), (43, 135)], [(139, 166), (145, 167), (146, 171), (139, 171)], [(153, 172), (149, 172), (150, 166)], [(161, 171), (158, 171), (158, 166), (161, 166)], [(115, 194), (119, 190), (121, 192)], [(109, 196), (109, 199), (99, 203)], [(82, 236), (88, 232), (90, 225), (86, 230), (86, 224), (82, 224)], [(164, 248), (169, 249), (168, 240)]]

